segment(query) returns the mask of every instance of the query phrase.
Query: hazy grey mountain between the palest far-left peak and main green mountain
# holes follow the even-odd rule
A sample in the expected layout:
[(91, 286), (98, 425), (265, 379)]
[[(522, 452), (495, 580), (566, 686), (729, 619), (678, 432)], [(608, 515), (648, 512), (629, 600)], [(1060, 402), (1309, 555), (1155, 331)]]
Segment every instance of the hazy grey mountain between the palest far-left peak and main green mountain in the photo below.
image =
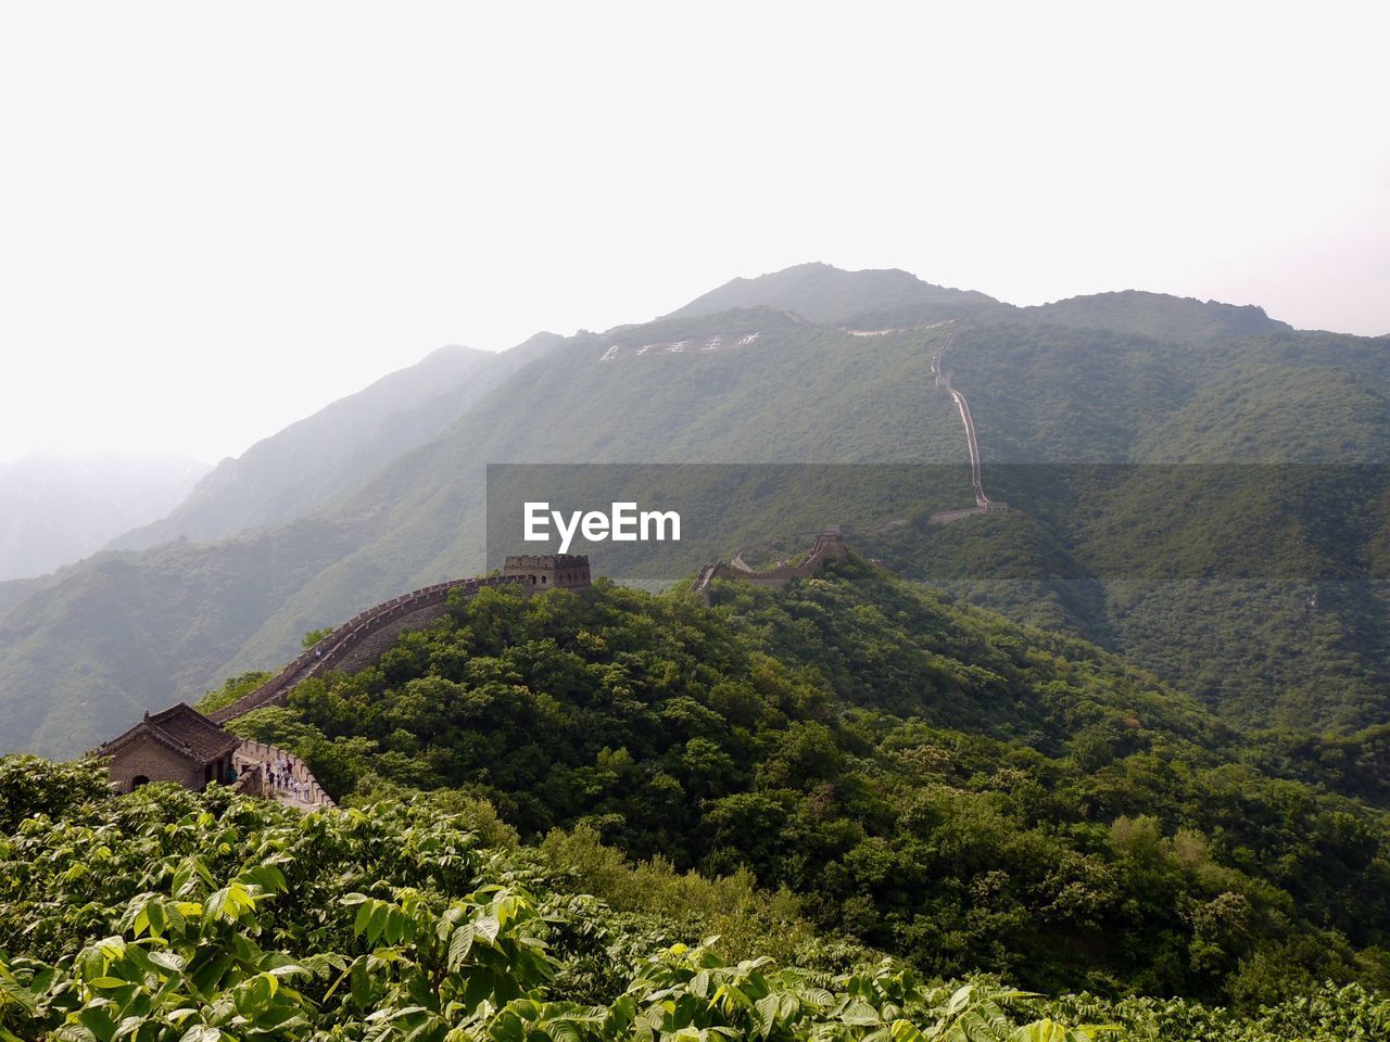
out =
[(257, 442), (240, 457), (222, 460), (167, 517), (113, 539), (110, 549), (217, 539), (303, 517), (428, 442), (557, 339), (541, 333), (503, 354), (441, 347)]

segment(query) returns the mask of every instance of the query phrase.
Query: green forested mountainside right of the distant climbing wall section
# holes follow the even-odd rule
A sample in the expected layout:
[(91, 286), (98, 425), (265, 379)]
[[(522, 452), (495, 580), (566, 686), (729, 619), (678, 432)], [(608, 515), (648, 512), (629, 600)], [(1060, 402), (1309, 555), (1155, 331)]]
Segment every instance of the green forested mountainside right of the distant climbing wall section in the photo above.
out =
[(1386, 720), (1382, 343), (977, 325), (954, 356), (991, 488), (1019, 510), (876, 553), (969, 579), (959, 589), (1099, 639), (1248, 722)]

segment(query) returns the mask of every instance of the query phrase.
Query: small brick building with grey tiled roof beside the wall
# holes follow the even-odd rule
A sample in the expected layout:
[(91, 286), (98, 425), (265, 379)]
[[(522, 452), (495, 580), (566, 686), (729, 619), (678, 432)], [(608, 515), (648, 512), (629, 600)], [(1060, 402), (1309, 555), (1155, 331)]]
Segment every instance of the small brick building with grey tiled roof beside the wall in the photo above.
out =
[(111, 782), (121, 792), (152, 781), (172, 781), (200, 791), (211, 782), (225, 784), (232, 753), (242, 741), (192, 706), (177, 706), (150, 716), (97, 752), (111, 759)]

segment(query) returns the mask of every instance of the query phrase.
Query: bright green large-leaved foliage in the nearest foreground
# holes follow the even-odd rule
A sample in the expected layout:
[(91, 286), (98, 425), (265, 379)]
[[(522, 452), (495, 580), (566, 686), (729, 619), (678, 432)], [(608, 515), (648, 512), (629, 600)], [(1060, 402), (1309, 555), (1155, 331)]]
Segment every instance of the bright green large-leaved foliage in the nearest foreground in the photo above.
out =
[[(90, 796), (101, 772), (0, 760)], [(0, 1039), (1088, 1042), (1038, 996), (666, 943), (428, 806), (297, 816), (172, 786), (0, 838)]]

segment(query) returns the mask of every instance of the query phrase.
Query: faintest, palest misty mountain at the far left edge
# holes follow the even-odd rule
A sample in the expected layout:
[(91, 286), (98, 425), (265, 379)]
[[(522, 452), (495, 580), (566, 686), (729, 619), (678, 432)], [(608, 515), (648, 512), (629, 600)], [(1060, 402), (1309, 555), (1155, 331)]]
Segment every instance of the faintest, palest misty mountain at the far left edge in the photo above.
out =
[(0, 463), (0, 579), (43, 575), (86, 557), (164, 514), (206, 472), (190, 458), (114, 453)]

